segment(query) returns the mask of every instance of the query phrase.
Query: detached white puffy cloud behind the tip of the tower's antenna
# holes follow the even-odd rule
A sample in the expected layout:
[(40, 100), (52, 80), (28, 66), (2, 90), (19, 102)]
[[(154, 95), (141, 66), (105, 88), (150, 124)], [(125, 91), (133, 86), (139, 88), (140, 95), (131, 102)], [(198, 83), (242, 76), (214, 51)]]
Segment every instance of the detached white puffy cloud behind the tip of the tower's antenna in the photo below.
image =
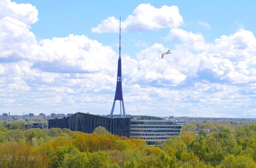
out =
[[(124, 32), (157, 30), (163, 28), (176, 28), (183, 24), (183, 18), (179, 13), (177, 6), (162, 6), (155, 8), (149, 3), (140, 4), (132, 15), (129, 15), (125, 21), (121, 22), (121, 29)], [(119, 19), (108, 17), (103, 20), (92, 32), (118, 32)]]

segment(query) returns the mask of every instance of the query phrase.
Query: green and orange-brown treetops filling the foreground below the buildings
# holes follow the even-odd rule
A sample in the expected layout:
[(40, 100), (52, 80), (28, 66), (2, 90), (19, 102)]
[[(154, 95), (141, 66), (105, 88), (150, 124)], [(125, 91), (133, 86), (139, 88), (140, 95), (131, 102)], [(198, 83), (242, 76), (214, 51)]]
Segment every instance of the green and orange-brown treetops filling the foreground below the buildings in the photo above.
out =
[[(69, 129), (9, 128), (0, 120), (0, 168), (230, 168), (256, 167), (255, 121), (190, 121), (180, 136), (147, 146), (137, 138)], [(212, 134), (193, 128), (218, 129)]]

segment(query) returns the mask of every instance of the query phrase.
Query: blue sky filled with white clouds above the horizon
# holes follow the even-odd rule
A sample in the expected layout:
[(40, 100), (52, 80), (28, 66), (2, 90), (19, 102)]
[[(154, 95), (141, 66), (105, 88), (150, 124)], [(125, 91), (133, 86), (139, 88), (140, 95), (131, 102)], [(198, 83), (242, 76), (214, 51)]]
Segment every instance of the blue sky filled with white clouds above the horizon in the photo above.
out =
[(110, 114), (121, 18), (126, 114), (256, 118), (255, 6), (0, 0), (0, 114)]

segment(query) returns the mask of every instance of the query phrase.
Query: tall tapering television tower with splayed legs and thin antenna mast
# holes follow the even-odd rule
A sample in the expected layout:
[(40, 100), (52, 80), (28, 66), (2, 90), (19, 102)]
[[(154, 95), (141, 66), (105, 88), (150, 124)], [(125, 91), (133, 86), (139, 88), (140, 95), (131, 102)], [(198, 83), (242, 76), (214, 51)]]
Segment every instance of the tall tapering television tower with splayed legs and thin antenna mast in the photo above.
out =
[[(120, 115), (122, 117), (122, 109), (123, 109), (123, 117), (126, 117), (125, 114), (125, 104), (123, 99), (123, 91), (122, 91), (122, 67), (121, 67), (121, 17), (120, 17), (120, 30), (119, 30), (119, 58), (118, 58), (118, 66), (117, 66), (117, 87), (115, 98), (112, 106), (112, 110), (110, 116), (113, 116), (113, 112), (115, 109), (116, 101), (120, 100)], [(121, 106), (122, 104), (122, 106)]]

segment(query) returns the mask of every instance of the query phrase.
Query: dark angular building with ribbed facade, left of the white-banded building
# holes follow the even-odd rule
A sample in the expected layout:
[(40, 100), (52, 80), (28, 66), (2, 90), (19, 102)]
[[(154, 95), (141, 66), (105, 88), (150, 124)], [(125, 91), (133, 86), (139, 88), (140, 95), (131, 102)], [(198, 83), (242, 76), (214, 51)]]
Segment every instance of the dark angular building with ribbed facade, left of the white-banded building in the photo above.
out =
[(89, 113), (77, 112), (62, 119), (49, 119), (48, 128), (68, 128), (91, 134), (99, 126), (105, 127), (111, 134), (130, 137), (130, 118), (113, 118)]

